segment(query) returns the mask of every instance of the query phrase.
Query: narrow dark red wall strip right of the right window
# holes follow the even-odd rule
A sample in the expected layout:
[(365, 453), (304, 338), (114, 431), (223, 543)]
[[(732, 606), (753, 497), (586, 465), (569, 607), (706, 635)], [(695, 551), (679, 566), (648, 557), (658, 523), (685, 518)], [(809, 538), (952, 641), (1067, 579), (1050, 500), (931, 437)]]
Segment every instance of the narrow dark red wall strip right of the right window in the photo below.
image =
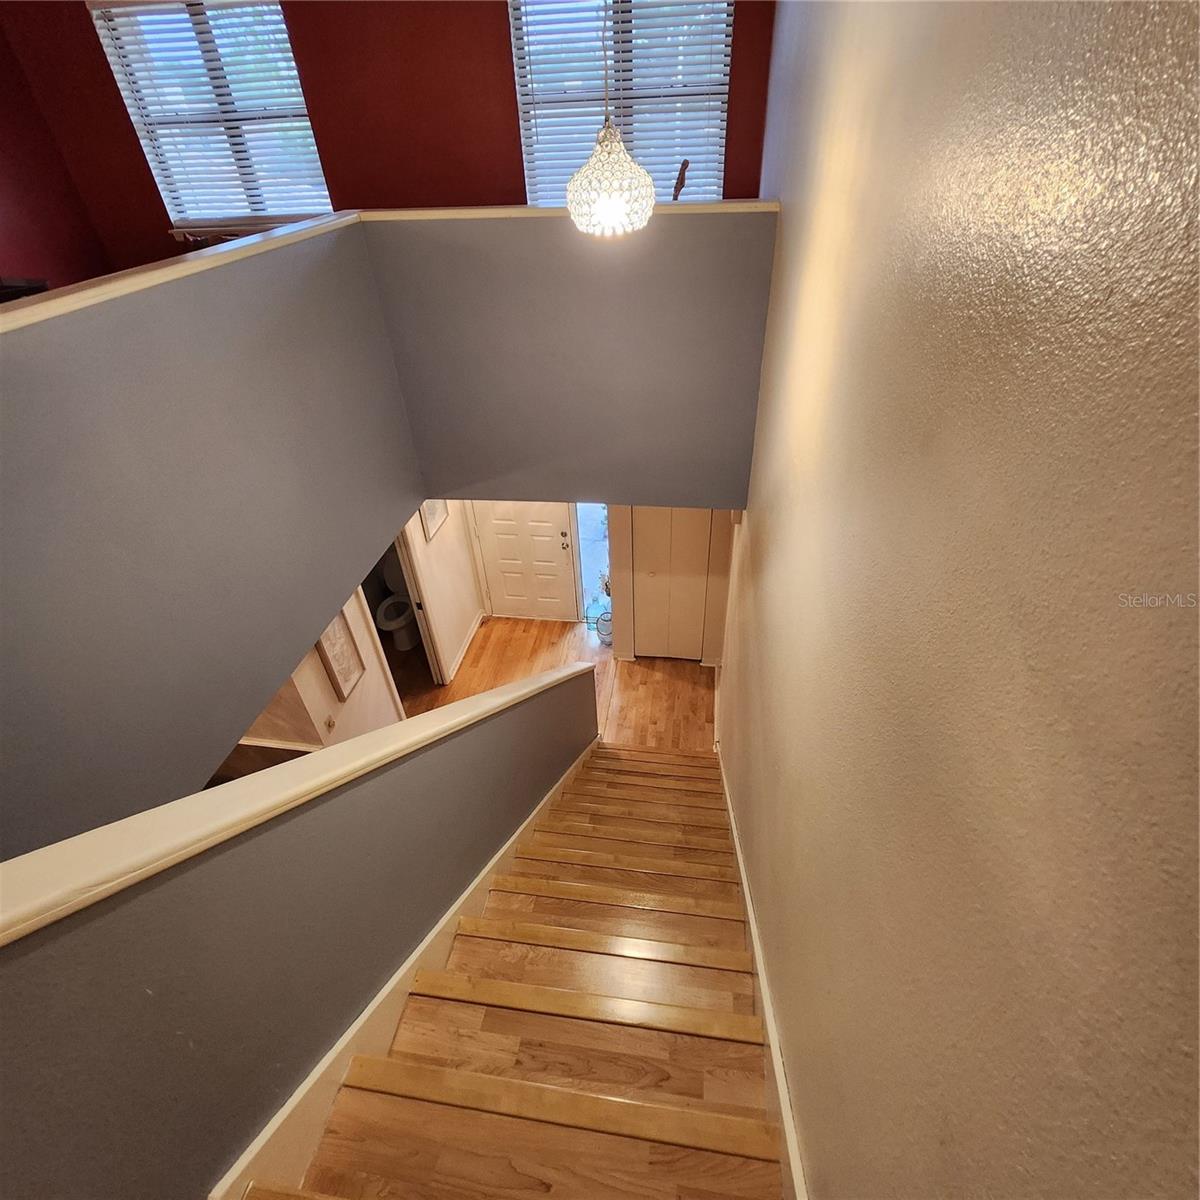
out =
[(725, 125), (725, 198), (758, 198), (775, 0), (737, 0)]

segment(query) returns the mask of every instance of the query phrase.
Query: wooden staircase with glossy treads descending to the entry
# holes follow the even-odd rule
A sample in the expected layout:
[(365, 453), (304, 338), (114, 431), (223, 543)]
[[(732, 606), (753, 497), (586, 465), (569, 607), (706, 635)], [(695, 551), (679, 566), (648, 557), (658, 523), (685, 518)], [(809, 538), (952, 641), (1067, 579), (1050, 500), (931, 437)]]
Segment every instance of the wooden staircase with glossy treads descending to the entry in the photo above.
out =
[(304, 1181), (247, 1200), (781, 1194), (716, 757), (598, 744), (355, 1057)]

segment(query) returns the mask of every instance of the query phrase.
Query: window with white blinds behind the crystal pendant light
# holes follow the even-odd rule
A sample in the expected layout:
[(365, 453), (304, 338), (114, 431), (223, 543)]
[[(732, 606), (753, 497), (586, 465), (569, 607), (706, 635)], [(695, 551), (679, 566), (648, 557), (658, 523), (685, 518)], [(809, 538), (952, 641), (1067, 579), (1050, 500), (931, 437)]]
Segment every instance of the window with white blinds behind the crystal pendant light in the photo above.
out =
[(509, 0), (529, 203), (563, 205), (610, 113), (670, 200), (719, 200), (725, 174), (733, 0)]

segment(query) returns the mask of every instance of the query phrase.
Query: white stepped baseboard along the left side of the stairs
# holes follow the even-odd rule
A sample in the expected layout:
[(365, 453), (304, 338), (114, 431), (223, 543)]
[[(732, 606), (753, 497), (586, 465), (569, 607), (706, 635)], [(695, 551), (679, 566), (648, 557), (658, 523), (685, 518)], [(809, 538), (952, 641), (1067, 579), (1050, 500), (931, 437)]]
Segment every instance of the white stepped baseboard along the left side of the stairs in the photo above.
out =
[(492, 875), (497, 871), (503, 872), (516, 858), (517, 839), (578, 770), (594, 744), (589, 743), (571, 763), (562, 779), (541, 798), (533, 812), (521, 822), (512, 836), (430, 930), (421, 944), (362, 1009), (358, 1020), (330, 1046), (305, 1081), (238, 1156), (233, 1166), (209, 1193), (209, 1200), (240, 1200), (251, 1180), (278, 1187), (300, 1186), (317, 1150), (317, 1142), (325, 1128), (325, 1121), (350, 1057), (356, 1054), (377, 1056), (388, 1054), (396, 1026), (400, 1024), (401, 1012), (413, 986), (413, 977), (420, 970), (445, 967), (458, 918), (478, 917), (484, 911), (484, 905), (487, 902), (487, 884)]

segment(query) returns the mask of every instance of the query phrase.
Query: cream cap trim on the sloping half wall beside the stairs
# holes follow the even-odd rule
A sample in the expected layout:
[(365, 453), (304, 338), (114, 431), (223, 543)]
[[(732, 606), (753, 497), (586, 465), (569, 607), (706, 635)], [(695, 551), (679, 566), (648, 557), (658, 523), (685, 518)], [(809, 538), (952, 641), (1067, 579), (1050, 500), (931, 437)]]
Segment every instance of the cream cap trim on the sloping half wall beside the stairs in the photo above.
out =
[(0, 863), (0, 946), (593, 670), (544, 671)]

